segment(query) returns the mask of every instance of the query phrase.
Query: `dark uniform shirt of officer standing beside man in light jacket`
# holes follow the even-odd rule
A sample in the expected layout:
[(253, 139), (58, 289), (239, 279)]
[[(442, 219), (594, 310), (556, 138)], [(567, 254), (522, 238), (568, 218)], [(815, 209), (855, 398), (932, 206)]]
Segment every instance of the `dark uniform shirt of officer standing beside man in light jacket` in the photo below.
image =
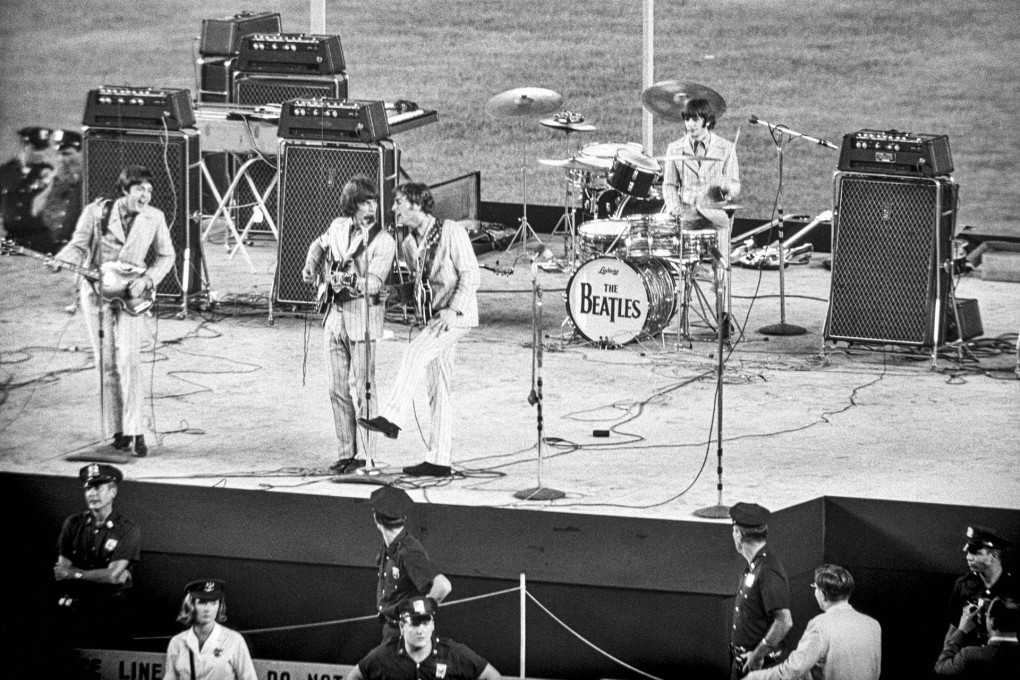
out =
[(763, 546), (744, 570), (733, 604), (730, 642), (753, 649), (772, 625), (772, 613), (789, 609), (789, 579), (779, 558)]

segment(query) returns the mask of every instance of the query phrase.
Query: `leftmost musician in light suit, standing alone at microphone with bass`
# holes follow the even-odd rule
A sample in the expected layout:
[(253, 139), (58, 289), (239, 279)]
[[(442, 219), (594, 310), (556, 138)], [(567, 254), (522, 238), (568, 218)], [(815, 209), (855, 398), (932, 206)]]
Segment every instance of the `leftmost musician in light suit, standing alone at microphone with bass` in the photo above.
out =
[[(120, 197), (98, 199), (86, 206), (67, 245), (57, 260), (88, 269), (113, 267), (130, 277), (122, 299), (140, 301), (155, 293), (159, 281), (173, 268), (173, 244), (163, 212), (152, 202), (152, 173), (141, 165), (129, 165), (117, 178)], [(54, 269), (59, 262), (51, 263)], [(131, 305), (109, 301), (110, 287), (97, 292), (82, 279), (80, 299), (86, 325), (92, 336), (96, 366), (102, 367), (104, 418), (113, 432), (114, 449), (134, 447), (145, 456), (142, 422), (142, 314)], [(104, 300), (104, 298), (106, 298)], [(102, 334), (100, 332), (102, 331)]]

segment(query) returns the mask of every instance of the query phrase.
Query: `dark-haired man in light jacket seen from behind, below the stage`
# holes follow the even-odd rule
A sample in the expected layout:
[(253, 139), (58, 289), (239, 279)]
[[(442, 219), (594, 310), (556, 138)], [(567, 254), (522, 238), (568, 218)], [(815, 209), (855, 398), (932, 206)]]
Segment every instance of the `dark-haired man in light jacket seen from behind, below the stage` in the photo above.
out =
[(753, 671), (749, 680), (878, 680), (882, 630), (850, 605), (854, 577), (843, 567), (815, 569), (815, 600), (822, 613), (808, 622), (797, 648), (773, 668)]

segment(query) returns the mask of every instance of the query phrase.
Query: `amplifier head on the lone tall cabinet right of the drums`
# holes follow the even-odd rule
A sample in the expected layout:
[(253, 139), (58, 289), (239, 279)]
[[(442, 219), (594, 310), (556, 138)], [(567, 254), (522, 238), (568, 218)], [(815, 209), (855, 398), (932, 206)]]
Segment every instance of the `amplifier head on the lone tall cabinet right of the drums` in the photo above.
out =
[(859, 129), (844, 136), (838, 168), (913, 177), (948, 175), (953, 172), (950, 139), (896, 129)]

